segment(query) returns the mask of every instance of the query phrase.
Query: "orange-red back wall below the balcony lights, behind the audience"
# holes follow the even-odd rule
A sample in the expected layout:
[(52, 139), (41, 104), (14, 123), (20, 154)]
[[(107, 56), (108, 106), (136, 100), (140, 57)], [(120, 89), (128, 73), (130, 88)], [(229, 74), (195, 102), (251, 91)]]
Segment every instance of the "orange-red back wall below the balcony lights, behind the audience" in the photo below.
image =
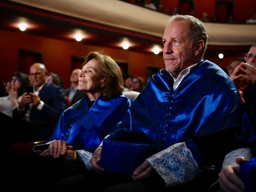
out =
[[(69, 86), (72, 56), (86, 56), (91, 51), (103, 51), (114, 60), (128, 63), (129, 74), (147, 77), (147, 66), (164, 68), (162, 54), (143, 54), (106, 47), (94, 47), (79, 42), (67, 42), (22, 32), (0, 30), (0, 81), (7, 81), (19, 69), (19, 49), (42, 52), (42, 63), (49, 72), (55, 72)], [(28, 71), (26, 71), (28, 73)]]

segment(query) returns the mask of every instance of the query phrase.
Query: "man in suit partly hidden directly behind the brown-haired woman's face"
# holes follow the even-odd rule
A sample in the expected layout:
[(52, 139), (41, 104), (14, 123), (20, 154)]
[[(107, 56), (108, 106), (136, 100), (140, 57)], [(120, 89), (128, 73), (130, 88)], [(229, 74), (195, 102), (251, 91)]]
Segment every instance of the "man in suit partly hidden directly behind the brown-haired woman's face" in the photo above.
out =
[(70, 75), (70, 88), (64, 90), (65, 94), (67, 95), (68, 99), (70, 100), (70, 105), (80, 100), (84, 97), (85, 93), (77, 90), (78, 86), (78, 76), (81, 73), (80, 68), (76, 68), (72, 71)]

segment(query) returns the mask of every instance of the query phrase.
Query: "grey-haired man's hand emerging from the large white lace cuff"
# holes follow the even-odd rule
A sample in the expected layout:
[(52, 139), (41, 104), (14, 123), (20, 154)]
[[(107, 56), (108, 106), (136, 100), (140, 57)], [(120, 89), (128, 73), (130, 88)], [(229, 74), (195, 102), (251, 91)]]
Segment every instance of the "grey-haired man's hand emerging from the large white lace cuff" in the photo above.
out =
[(144, 161), (136, 170), (134, 170), (133, 175), (131, 175), (133, 180), (141, 180), (149, 178), (153, 173), (153, 168), (148, 163), (148, 161)]

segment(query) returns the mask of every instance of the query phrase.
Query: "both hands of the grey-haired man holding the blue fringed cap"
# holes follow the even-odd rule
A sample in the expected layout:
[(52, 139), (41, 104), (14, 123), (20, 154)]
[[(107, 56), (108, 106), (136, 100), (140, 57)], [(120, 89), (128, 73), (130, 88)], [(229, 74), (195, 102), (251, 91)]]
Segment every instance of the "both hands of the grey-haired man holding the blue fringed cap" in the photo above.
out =
[[(95, 152), (93, 153), (92, 159), (90, 163), (92, 164), (92, 169), (96, 172), (104, 172), (104, 168), (99, 166), (100, 163), (100, 154), (101, 154), (101, 147), (98, 147)], [(144, 161), (134, 172), (132, 173), (131, 177), (133, 180), (141, 180), (141, 179), (147, 179), (151, 177), (152, 173), (154, 171), (154, 168), (148, 163), (148, 161)]]

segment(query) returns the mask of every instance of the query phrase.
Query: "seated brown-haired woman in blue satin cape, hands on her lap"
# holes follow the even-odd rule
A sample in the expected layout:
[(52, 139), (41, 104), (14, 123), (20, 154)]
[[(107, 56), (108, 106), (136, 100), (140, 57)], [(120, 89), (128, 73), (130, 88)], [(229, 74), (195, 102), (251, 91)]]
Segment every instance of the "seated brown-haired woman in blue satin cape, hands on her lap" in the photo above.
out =
[[(40, 185), (40, 189), (47, 189), (48, 184), (67, 174), (83, 172), (80, 168), (83, 161), (70, 161), (76, 159), (74, 156), (80, 159), (79, 152), (74, 150), (85, 149), (83, 155), (88, 156), (85, 165), (90, 166), (92, 153), (104, 137), (116, 128), (131, 106), (131, 100), (122, 94), (123, 83), (122, 72), (112, 58), (90, 52), (83, 63), (77, 87), (86, 96), (61, 113), (47, 145), (35, 146), (35, 150), (43, 150), (42, 153), (36, 151), (40, 156), (4, 155), (3, 161), (8, 165), (4, 170), (6, 183), (18, 182), (19, 185), (12, 186), (18, 189), (35, 189), (34, 184)], [(83, 164), (83, 168), (86, 166)]]

